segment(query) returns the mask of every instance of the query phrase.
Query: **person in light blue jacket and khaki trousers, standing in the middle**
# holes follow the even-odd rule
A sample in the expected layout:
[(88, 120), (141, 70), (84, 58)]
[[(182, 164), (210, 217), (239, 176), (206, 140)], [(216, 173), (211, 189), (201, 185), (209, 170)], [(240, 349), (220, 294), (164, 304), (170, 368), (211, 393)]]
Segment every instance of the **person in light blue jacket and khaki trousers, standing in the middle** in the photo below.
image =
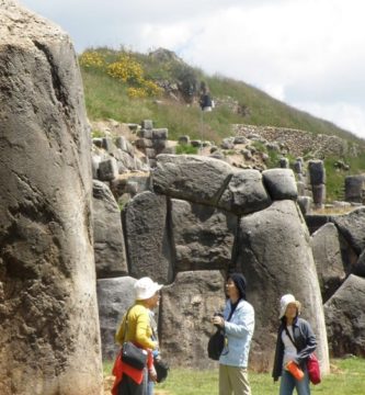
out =
[(254, 330), (254, 309), (246, 300), (246, 279), (232, 273), (226, 282), (228, 301), (223, 317), (212, 318), (224, 328), (226, 345), (219, 358), (219, 395), (251, 395), (248, 360)]

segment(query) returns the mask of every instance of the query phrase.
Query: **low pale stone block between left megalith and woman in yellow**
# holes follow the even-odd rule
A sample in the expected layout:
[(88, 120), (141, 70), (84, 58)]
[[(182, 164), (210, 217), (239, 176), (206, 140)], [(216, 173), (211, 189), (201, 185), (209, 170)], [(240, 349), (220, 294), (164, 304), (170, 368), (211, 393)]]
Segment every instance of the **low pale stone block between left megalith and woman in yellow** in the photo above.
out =
[(115, 343), (114, 337), (123, 315), (135, 301), (135, 282), (130, 276), (102, 279), (96, 282), (103, 361), (113, 361), (121, 348)]

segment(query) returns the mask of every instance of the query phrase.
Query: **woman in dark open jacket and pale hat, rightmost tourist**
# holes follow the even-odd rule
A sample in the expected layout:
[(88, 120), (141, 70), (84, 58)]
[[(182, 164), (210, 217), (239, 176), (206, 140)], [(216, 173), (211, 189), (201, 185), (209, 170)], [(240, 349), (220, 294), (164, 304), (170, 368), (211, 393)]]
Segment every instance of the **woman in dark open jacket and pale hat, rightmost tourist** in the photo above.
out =
[[(282, 376), (280, 395), (292, 395), (294, 388), (298, 395), (310, 395), (306, 361), (316, 350), (317, 341), (309, 323), (299, 318), (299, 312), (300, 303), (293, 295), (282, 297), (273, 369), (275, 382)], [(286, 369), (289, 362), (295, 362), (303, 370), (303, 380), (295, 379)]]

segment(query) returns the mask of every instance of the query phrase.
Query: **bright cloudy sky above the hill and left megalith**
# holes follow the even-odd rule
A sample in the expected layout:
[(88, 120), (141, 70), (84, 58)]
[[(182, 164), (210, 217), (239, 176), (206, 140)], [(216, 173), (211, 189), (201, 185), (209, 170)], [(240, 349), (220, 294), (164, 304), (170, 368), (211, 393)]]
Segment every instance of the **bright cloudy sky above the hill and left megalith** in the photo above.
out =
[(164, 47), (365, 138), (364, 0), (20, 2), (68, 32), (78, 53)]

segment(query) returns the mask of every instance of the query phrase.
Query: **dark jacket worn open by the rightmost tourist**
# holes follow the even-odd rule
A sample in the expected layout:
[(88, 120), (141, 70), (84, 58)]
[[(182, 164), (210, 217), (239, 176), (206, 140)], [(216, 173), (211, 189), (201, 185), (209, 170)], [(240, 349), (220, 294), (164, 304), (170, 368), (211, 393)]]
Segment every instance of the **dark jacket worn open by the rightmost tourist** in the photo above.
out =
[[(282, 340), (282, 332), (285, 330), (285, 320), (282, 319), (281, 326), (277, 331), (276, 339), (276, 350), (273, 368), (273, 377), (274, 381), (277, 381), (282, 375), (283, 370), (283, 359), (284, 359), (284, 343)], [(307, 358), (316, 350), (317, 341), (316, 336), (309, 325), (305, 319), (296, 317), (293, 323), (293, 335), (294, 342), (297, 348), (297, 358), (296, 362), (300, 365), (301, 369), (305, 369)]]

